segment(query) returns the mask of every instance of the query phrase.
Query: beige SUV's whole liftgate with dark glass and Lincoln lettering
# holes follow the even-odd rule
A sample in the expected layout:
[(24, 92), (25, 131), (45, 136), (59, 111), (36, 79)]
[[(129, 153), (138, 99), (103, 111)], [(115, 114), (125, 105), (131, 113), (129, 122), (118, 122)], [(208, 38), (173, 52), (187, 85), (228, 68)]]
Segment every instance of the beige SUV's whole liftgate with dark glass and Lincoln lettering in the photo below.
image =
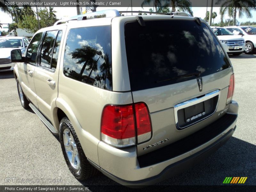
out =
[(220, 117), (233, 70), (205, 23), (151, 20), (142, 27), (128, 22), (125, 44), (133, 101), (147, 104), (152, 122), (152, 138), (138, 144), (138, 156)]

